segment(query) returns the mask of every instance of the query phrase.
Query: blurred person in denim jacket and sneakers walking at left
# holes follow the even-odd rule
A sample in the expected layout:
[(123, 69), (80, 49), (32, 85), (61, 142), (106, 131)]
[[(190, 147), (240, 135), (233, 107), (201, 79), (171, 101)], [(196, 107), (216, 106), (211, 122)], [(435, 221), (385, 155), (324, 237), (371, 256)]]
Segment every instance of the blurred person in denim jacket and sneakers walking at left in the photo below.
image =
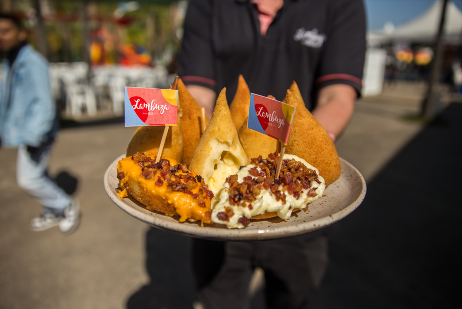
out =
[(27, 32), (14, 15), (0, 14), (3, 78), (0, 90), (0, 146), (17, 147), (19, 187), (41, 205), (30, 222), (33, 231), (55, 226), (66, 234), (79, 225), (79, 202), (47, 173), (50, 150), (58, 131), (48, 61), (27, 43)]

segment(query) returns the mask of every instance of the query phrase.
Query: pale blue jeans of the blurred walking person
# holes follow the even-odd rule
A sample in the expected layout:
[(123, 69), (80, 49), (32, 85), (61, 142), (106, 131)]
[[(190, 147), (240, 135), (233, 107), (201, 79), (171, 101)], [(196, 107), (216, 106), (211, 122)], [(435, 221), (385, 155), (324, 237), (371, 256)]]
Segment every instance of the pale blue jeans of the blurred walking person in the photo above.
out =
[(60, 214), (72, 200), (48, 177), (47, 167), (51, 146), (51, 141), (38, 148), (20, 146), (17, 155), (17, 183), (43, 206), (42, 215), (47, 212)]

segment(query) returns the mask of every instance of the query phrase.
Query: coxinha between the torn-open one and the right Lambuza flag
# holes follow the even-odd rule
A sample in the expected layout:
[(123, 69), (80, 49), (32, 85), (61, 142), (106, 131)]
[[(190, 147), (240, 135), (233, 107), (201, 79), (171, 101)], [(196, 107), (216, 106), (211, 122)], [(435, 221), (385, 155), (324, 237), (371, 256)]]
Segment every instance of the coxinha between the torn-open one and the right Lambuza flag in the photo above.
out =
[(247, 128), (247, 118), (239, 129), (238, 134), (245, 154), (249, 159), (257, 158), (260, 155), (266, 158), (268, 154), (281, 150), (279, 140)]

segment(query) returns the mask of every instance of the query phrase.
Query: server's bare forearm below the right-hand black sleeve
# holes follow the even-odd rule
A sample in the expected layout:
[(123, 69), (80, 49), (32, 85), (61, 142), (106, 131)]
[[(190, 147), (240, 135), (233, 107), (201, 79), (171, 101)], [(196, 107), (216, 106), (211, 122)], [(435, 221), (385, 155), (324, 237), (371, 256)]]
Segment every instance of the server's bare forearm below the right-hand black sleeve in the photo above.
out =
[(319, 91), (313, 116), (331, 133), (331, 137), (338, 137), (347, 127), (354, 112), (356, 96), (356, 91), (348, 85), (331, 85)]

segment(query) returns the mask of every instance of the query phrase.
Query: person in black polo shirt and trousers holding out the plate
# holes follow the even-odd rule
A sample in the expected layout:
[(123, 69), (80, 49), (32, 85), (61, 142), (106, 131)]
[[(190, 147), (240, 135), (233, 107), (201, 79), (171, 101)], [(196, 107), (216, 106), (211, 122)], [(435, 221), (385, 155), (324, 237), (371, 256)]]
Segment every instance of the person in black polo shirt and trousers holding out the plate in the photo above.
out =
[[(278, 100), (292, 81), (335, 139), (360, 96), (365, 55), (361, 0), (191, 0), (179, 76), (211, 116), (239, 74), (253, 93)], [(253, 269), (265, 272), (269, 308), (304, 308), (328, 265), (327, 229), (265, 242), (193, 240), (193, 270), (205, 309), (247, 308)]]

